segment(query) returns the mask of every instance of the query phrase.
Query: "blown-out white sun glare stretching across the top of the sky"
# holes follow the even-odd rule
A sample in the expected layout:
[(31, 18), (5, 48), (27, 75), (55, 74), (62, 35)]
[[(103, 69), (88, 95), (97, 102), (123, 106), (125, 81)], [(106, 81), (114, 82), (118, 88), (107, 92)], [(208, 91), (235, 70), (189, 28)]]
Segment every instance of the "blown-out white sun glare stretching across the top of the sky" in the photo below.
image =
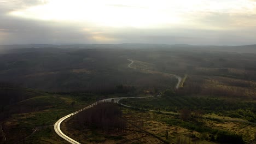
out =
[[(161, 28), (195, 26), (207, 14), (255, 14), (256, 4), (247, 0), (51, 0), (43, 5), (11, 11), (13, 16), (46, 21), (82, 22), (93, 27)], [(201, 27), (200, 24), (197, 26)]]

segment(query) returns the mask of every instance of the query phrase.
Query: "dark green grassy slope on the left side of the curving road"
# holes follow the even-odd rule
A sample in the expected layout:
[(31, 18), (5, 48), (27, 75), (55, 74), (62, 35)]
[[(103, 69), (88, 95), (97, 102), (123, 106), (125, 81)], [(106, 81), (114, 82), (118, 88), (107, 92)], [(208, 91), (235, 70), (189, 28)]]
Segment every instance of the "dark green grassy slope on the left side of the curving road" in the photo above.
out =
[[(26, 91), (26, 90), (25, 90)], [(28, 89), (28, 92), (32, 90)], [(5, 107), (12, 115), (6, 119), (3, 131), (5, 143), (63, 143), (55, 134), (54, 123), (62, 116), (85, 107), (99, 97), (88, 94), (57, 94), (38, 91), (38, 95)], [(16, 136), (14, 136), (16, 135)]]

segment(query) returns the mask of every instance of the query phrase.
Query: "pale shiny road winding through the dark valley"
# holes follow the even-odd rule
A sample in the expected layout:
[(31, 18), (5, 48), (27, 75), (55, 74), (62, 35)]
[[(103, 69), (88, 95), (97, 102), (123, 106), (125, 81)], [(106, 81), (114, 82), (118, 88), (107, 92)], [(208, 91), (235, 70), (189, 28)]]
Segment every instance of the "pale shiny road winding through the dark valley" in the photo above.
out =
[[(131, 63), (130, 63), (127, 67), (132, 68), (132, 69), (136, 69), (136, 68), (131, 67), (131, 65), (134, 63), (134, 61), (132, 61), (131, 59), (127, 59), (127, 60), (131, 61)], [(160, 72), (160, 73), (161, 73), (161, 72)], [(166, 73), (165, 73), (165, 74), (166, 74)], [(176, 77), (176, 78), (178, 79), (178, 83), (177, 83), (177, 85), (176, 85), (176, 89), (179, 88), (179, 85), (180, 85), (180, 83), (181, 83), (182, 78), (181, 78), (180, 76), (173, 75), (173, 74), (169, 74), (169, 75), (172, 75), (172, 76), (174, 76), (174, 77)], [(95, 105), (97, 105), (97, 104), (99, 104), (99, 103), (103, 103), (103, 102), (114, 102), (114, 103), (118, 103), (118, 104), (123, 105), (123, 106), (126, 106), (126, 107), (130, 107), (130, 106), (121, 104), (121, 103), (120, 103), (120, 100), (121, 100), (121, 99), (131, 99), (131, 98), (150, 98), (150, 97), (153, 97), (153, 96), (149, 96), (149, 97), (117, 97), (117, 98), (107, 98), (107, 99), (98, 100), (98, 101), (96, 101), (95, 103), (93, 103), (93, 104), (91, 104), (91, 105), (89, 105), (89, 106), (84, 107), (83, 109), (80, 109), (80, 110), (78, 110), (78, 111), (75, 111), (75, 112), (73, 112), (73, 113), (70, 113), (70, 114), (67, 115), (67, 116), (64, 116), (64, 117), (60, 118), (60, 119), (54, 124), (54, 130), (55, 130), (55, 132), (56, 132), (57, 135), (59, 135), (60, 137), (62, 137), (62, 139), (68, 141), (69, 143), (78, 144), (79, 142), (73, 140), (71, 137), (68, 137), (67, 135), (65, 135), (65, 134), (61, 131), (60, 125), (61, 125), (61, 123), (62, 123), (63, 121), (65, 121), (65, 119), (67, 119), (67, 118), (69, 118), (69, 117), (71, 117), (71, 116), (73, 116), (73, 115), (75, 115), (75, 114), (77, 114), (77, 113), (79, 113), (79, 112), (81, 112), (81, 111), (84, 111), (84, 110), (86, 110), (86, 109), (89, 109), (90, 107), (93, 107), (93, 106), (95, 106)], [(150, 110), (149, 110), (149, 111), (150, 111)], [(153, 111), (153, 110), (151, 110), (151, 111)]]

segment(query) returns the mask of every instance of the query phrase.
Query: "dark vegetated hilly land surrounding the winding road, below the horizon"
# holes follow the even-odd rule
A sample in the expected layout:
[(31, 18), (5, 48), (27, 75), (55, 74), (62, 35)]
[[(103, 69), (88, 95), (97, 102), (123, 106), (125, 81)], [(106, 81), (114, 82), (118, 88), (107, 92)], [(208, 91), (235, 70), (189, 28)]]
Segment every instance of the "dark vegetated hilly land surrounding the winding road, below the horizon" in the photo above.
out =
[[(115, 106), (129, 128), (91, 123), (84, 117), (92, 109), (61, 129), (82, 143), (251, 143), (255, 56), (165, 47), (12, 50), (0, 55), (0, 139), (65, 143), (53, 129), (62, 116), (104, 98), (153, 95), (122, 100), (129, 109)], [(183, 79), (178, 89), (173, 74)]]

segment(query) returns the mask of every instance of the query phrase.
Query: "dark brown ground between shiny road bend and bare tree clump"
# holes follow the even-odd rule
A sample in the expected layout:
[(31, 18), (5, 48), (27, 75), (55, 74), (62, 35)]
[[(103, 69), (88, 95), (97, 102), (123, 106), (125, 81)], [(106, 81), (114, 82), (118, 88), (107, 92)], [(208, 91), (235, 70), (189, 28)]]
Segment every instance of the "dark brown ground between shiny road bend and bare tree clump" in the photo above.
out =
[(74, 117), (63, 122), (61, 129), (63, 133), (80, 143), (162, 143), (155, 137), (138, 129), (126, 129), (123, 132), (117, 131), (112, 133), (107, 133), (101, 129), (84, 129), (77, 125)]

